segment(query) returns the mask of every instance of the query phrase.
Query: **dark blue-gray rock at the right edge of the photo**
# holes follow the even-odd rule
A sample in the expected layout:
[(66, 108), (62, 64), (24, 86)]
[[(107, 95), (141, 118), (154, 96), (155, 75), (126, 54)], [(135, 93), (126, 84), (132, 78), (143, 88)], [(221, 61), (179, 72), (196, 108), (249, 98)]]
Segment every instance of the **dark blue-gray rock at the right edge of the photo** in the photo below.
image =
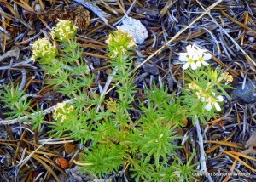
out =
[(232, 100), (239, 100), (248, 104), (256, 102), (256, 81), (253, 81), (253, 84), (247, 81), (244, 89), (242, 89), (242, 84), (238, 85), (236, 90), (232, 92)]

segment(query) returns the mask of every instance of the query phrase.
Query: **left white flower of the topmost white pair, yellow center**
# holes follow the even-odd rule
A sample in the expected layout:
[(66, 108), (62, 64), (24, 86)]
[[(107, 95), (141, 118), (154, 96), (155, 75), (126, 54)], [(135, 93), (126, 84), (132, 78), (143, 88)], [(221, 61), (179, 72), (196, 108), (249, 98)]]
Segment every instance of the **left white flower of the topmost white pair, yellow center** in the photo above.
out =
[(195, 70), (198, 66), (195, 64), (195, 60), (198, 60), (198, 54), (196, 54), (196, 49), (194, 45), (188, 45), (186, 47), (187, 53), (179, 53), (178, 60), (185, 62), (183, 65), (183, 69), (186, 70), (189, 65), (191, 66), (192, 70)]

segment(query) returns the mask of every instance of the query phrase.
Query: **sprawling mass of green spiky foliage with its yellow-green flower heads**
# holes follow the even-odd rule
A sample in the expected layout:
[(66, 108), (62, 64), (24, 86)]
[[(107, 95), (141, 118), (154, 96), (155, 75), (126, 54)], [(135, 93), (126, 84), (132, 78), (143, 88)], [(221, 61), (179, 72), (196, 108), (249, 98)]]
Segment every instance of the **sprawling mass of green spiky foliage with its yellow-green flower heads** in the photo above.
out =
[[(145, 90), (144, 102), (139, 105), (142, 114), (135, 120), (131, 118), (132, 104), (138, 102), (132, 79), (134, 39), (120, 30), (108, 37), (108, 55), (115, 72), (113, 84), (119, 84), (117, 98), (105, 100), (91, 88), (94, 75), (82, 58), (76, 31), (71, 22), (60, 21), (51, 33), (55, 44), (39, 39), (32, 45), (32, 59), (44, 68), (48, 76), (46, 83), (67, 98), (73, 98), (71, 103), (57, 105), (52, 136), (73, 137), (88, 147), (81, 154), (82, 169), (99, 177), (130, 168), (137, 181), (194, 179), (192, 173), (199, 163), (193, 160), (195, 151), (188, 161), (178, 157), (177, 150), (182, 147), (176, 144), (182, 137), (177, 136), (177, 128), (182, 128), (189, 117), (194, 122), (198, 118), (206, 121), (218, 114), (215, 108), (205, 110), (207, 103), (201, 101), (198, 93), (202, 91), (212, 100), (218, 99), (216, 94), (228, 96), (224, 88), (229, 86), (223, 83), (222, 72), (212, 68), (186, 71), (186, 82), (193, 82), (194, 86), (184, 87), (180, 97), (168, 94), (165, 86), (154, 85), (151, 90)], [(34, 128), (40, 129), (44, 124), (42, 111), (30, 108), (34, 113), (28, 113), (30, 103), (26, 94), (14, 85), (3, 87), (0, 99), (9, 110), (7, 114), (12, 118), (27, 115)]]

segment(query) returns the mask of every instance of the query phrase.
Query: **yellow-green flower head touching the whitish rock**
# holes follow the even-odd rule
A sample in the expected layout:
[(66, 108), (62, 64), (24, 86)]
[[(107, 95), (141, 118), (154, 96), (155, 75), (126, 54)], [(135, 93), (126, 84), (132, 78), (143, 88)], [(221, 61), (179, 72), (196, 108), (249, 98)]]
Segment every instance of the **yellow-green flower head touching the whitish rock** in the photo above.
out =
[(118, 54), (127, 54), (136, 46), (136, 40), (128, 32), (122, 32), (119, 28), (117, 31), (113, 31), (113, 34), (109, 34), (106, 43), (108, 43), (108, 54), (112, 58)]

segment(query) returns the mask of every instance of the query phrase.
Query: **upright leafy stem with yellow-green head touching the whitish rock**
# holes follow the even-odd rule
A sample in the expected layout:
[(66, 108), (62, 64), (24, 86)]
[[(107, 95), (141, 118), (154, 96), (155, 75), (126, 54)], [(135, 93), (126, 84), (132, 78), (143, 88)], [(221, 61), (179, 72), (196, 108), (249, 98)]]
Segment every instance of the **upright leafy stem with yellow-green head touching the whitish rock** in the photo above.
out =
[(113, 34), (108, 36), (106, 40), (108, 43), (108, 55), (112, 59), (114, 81), (119, 81), (117, 87), (119, 94), (118, 107), (119, 111), (114, 113), (116, 122), (120, 122), (123, 126), (127, 126), (131, 122), (128, 109), (131, 109), (130, 104), (134, 100), (134, 93), (136, 93), (135, 86), (131, 81), (131, 66), (132, 61), (129, 55), (131, 51), (136, 48), (136, 41), (128, 32), (122, 32), (120, 29), (113, 31)]

